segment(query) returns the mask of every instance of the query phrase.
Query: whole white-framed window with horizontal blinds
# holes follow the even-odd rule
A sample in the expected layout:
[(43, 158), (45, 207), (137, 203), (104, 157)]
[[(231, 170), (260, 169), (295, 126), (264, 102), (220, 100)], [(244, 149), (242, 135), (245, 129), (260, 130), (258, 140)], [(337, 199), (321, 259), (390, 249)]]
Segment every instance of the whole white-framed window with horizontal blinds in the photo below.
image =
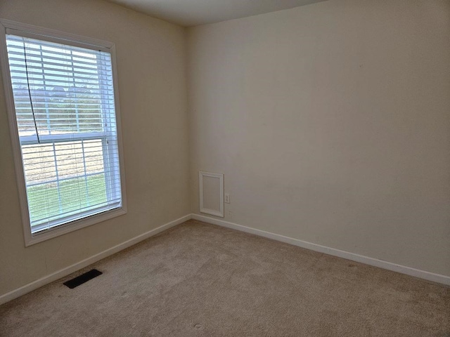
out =
[(1, 24), (25, 244), (125, 213), (113, 44)]

